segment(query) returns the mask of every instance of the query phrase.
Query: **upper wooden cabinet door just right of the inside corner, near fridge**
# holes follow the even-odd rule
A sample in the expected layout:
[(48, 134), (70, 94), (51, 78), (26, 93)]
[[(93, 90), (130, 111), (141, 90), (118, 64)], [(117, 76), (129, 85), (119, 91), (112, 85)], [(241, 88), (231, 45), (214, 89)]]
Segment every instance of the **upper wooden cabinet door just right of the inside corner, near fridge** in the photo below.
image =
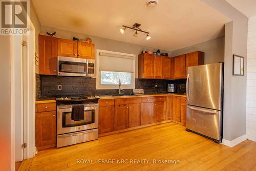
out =
[(185, 55), (173, 58), (173, 78), (185, 78)]

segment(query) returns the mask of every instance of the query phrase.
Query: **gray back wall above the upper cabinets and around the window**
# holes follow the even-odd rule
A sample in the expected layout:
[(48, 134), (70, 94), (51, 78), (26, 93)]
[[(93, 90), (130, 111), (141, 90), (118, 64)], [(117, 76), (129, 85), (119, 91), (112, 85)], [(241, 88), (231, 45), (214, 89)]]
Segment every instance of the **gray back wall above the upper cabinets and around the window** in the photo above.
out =
[[(74, 33), (74, 32), (60, 30), (60, 29), (56, 29), (56, 28), (41, 26), (42, 33), (46, 34), (46, 32), (52, 33), (54, 31), (56, 31), (55, 37), (58, 37), (58, 38), (72, 39), (73, 37), (78, 37), (79, 39), (85, 39), (86, 37), (90, 37), (92, 39), (93, 43), (95, 44), (95, 54), (96, 54), (96, 49), (135, 54), (136, 55), (136, 69), (138, 68), (138, 54), (140, 54), (142, 50), (146, 50), (146, 51), (148, 51), (148, 50), (156, 51), (157, 50), (155, 48), (144, 47), (141, 45), (130, 44), (127, 42), (116, 41), (116, 40), (111, 40), (111, 39), (106, 39), (106, 38), (101, 38), (101, 37), (95, 37), (95, 36), (91, 36), (91, 35), (87, 35), (87, 34), (83, 34), (83, 33)], [(169, 53), (170, 54), (170, 51), (166, 51), (166, 50), (160, 50), (160, 51), (161, 51), (161, 53)], [(135, 77), (138, 78), (138, 70), (136, 70)]]

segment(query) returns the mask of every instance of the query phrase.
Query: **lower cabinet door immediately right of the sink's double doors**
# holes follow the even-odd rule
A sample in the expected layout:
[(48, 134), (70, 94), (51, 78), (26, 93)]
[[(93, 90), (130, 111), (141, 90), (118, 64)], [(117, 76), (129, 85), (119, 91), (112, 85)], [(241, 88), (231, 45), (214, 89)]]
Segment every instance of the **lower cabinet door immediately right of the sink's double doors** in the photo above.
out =
[(154, 123), (154, 102), (141, 103), (141, 125)]

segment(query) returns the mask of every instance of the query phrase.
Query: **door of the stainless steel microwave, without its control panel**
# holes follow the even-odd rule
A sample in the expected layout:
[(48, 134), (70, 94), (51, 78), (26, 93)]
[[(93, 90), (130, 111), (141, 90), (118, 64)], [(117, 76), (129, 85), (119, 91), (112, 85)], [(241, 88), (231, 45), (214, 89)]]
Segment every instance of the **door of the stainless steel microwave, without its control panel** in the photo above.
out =
[(87, 60), (58, 56), (58, 75), (87, 76)]

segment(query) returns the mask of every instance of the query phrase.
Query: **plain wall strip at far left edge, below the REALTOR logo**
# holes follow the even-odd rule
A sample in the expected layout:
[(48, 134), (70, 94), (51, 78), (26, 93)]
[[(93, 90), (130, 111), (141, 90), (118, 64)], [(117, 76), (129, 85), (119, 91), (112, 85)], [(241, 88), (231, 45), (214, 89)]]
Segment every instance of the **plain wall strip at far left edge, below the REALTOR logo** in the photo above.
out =
[(0, 168), (11, 168), (11, 57), (10, 36), (0, 36)]

